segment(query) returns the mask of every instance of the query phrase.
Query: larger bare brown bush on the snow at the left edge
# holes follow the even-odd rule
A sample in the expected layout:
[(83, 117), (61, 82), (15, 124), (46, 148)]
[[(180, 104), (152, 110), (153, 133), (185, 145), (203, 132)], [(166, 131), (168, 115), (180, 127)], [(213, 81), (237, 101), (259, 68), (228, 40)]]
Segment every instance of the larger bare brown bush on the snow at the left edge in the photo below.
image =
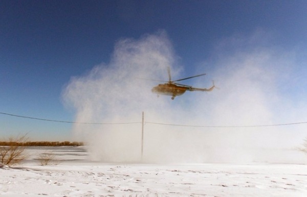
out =
[(27, 141), (27, 134), (10, 137), (8, 145), (0, 146), (0, 159), (1, 163), (5, 165), (19, 164), (21, 161), (27, 158), (25, 155), (26, 146), (22, 146)]

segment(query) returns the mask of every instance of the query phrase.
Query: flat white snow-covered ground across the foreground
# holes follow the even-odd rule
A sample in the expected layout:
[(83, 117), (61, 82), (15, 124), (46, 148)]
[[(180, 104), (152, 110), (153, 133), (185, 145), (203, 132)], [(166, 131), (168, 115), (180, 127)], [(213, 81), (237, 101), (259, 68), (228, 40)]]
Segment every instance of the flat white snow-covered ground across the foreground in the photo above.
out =
[[(52, 151), (58, 165), (37, 157)], [(307, 196), (305, 164), (141, 164), (90, 161), (82, 147), (30, 148), (0, 165), (0, 196)]]

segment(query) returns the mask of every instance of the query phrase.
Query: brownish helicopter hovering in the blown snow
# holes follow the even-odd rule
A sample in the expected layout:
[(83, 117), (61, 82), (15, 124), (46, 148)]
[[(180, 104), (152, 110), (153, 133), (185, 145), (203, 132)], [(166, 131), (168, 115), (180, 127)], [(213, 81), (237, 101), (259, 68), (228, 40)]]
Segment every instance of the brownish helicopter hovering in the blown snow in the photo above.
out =
[[(182, 94), (184, 94), (187, 90), (188, 91), (212, 91), (214, 86), (214, 82), (213, 82), (213, 86), (210, 87), (209, 89), (206, 88), (194, 88), (192, 86), (188, 86), (188, 85), (183, 85), (183, 84), (179, 84), (179, 83), (174, 83), (174, 82), (178, 82), (178, 81), (183, 81), (183, 80), (187, 80), (187, 79), (191, 79), (191, 78), (195, 78), (195, 77), (201, 77), (206, 75), (206, 73), (201, 74), (201, 75), (196, 75), (196, 76), (192, 76), (192, 77), (188, 77), (188, 78), (184, 78), (184, 79), (179, 79), (179, 80), (174, 80), (171, 81), (171, 76), (170, 76), (170, 68), (168, 67), (167, 69), (168, 72), (168, 81), (161, 81), (161, 82), (167, 82), (165, 84), (159, 84), (155, 87), (153, 87), (151, 89), (151, 91), (153, 93), (157, 93), (157, 96), (159, 97), (159, 95), (169, 95), (171, 96), (171, 99), (174, 100), (176, 96), (180, 96)], [(160, 81), (160, 80), (151, 80), (151, 81)]]

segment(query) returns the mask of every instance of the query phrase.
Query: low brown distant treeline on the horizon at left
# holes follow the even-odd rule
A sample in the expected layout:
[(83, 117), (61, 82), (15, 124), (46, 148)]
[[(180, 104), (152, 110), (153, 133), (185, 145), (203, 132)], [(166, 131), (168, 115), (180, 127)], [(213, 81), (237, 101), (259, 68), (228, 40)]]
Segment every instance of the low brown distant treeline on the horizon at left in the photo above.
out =
[(83, 142), (70, 141), (27, 141), (27, 142), (13, 142), (0, 141), (0, 146), (83, 146)]

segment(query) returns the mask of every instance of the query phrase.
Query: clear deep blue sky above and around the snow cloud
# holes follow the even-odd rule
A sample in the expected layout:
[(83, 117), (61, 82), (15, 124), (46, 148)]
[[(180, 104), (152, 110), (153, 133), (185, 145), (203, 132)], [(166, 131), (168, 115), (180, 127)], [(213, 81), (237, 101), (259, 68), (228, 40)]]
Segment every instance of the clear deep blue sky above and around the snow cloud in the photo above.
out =
[[(217, 64), (222, 63), (219, 58), (237, 48), (267, 47), (291, 54), (291, 61), (297, 63), (291, 72), (297, 77), (280, 82), (278, 92), (291, 94), (287, 101), (304, 103), (306, 18), (307, 1), (303, 0), (2, 0), (0, 112), (75, 121), (74, 110), (62, 99), (72, 77), (84, 76), (96, 65), (108, 65), (119, 40), (138, 40), (159, 31), (167, 35), (183, 67), (180, 77), (198, 74), (199, 70), (207, 75), (223, 70), (225, 65)], [(205, 66), (200, 69), (200, 65)], [(295, 80), (299, 87), (283, 88)], [(29, 133), (32, 140), (71, 140), (73, 127), (4, 114), (0, 114), (0, 125), (0, 137)]]

